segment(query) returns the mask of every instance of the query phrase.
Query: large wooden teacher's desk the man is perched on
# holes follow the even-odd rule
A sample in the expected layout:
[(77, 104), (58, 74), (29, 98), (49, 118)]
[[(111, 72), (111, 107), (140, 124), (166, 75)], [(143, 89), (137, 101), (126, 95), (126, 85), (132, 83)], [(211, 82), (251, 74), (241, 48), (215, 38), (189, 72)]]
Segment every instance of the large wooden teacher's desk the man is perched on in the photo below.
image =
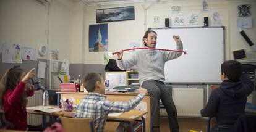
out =
[[(71, 99), (71, 98), (75, 98), (75, 99), (83, 99), (84, 97), (86, 97), (88, 94), (87, 93), (83, 93), (83, 92), (56, 92), (56, 94), (60, 94), (59, 99), (62, 98), (66, 98), (66, 99)], [(137, 96), (137, 94), (131, 94), (131, 93), (105, 93), (105, 95), (107, 96), (107, 99), (109, 101), (128, 101), (129, 99), (131, 99), (134, 96)], [(58, 101), (59, 101), (58, 99)], [(145, 126), (146, 126), (146, 130), (150, 131), (150, 96), (146, 95), (143, 99), (143, 102), (146, 103), (147, 105), (147, 111), (148, 113), (146, 114), (146, 118), (145, 118)]]

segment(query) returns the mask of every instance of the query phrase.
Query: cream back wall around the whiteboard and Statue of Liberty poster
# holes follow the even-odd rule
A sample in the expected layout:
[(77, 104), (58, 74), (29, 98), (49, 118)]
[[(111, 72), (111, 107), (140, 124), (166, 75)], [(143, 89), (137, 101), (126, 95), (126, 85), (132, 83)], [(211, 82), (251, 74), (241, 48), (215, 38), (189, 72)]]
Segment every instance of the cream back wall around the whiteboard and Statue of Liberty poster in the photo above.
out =
[[(134, 6), (135, 7), (135, 20), (124, 21), (124, 22), (108, 22), (108, 36), (109, 36), (109, 52), (119, 51), (121, 49), (129, 48), (128, 44), (131, 41), (141, 42), (143, 33), (145, 29), (154, 27), (153, 17), (155, 15), (161, 18), (161, 27), (164, 27), (164, 18), (173, 19), (177, 14), (170, 13), (171, 6), (181, 6), (182, 13), (178, 15), (188, 16), (191, 12), (198, 12), (199, 15), (199, 25), (203, 26), (203, 17), (209, 18), (209, 25), (211, 26), (211, 14), (218, 11), (222, 15), (223, 26), (226, 28), (226, 60), (233, 59), (232, 51), (237, 49), (247, 49), (252, 50), (247, 42), (242, 38), (238, 32), (237, 19), (238, 10), (237, 5), (239, 4), (251, 4), (252, 9), (252, 20), (255, 23), (255, 9), (256, 1), (239, 1), (239, 0), (215, 0), (208, 1), (208, 7), (210, 12), (201, 12), (202, 1), (164, 1), (164, 2), (153, 2), (146, 3), (145, 7), (147, 9), (147, 16), (144, 14), (144, 9), (141, 4), (117, 4), (112, 6), (101, 6), (101, 7), (86, 7), (85, 11), (85, 64), (102, 64), (103, 63), (103, 52), (88, 52), (88, 25), (96, 24), (96, 9), (108, 9), (113, 7), (124, 7), (124, 6)], [(242, 19), (242, 18), (240, 18)], [(146, 26), (145, 26), (146, 25)], [(253, 24), (254, 25), (254, 24)], [(146, 27), (146, 28), (145, 28)], [(187, 25), (186, 27), (189, 27)], [(245, 32), (249, 38), (256, 43), (255, 37), (255, 26), (250, 29), (246, 29)], [(170, 42), (172, 43), (172, 42)], [(124, 59), (130, 56), (129, 53), (124, 54)], [(241, 61), (247, 61), (241, 60)]]

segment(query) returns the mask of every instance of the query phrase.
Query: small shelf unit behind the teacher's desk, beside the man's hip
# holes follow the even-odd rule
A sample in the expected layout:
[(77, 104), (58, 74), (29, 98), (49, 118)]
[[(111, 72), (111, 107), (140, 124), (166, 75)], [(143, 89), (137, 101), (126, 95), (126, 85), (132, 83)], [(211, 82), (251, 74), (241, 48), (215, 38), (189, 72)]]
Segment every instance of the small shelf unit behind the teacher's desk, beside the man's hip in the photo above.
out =
[(139, 86), (139, 76), (137, 70), (126, 71), (127, 86)]

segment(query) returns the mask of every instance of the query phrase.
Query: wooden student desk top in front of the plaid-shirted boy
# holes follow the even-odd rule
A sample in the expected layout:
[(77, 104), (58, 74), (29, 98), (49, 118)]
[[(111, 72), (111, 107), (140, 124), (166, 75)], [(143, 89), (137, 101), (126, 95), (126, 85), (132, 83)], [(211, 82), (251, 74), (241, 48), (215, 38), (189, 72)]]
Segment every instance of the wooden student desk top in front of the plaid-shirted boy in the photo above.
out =
[[(55, 107), (55, 106), (54, 106)], [(27, 107), (29, 108), (29, 107)], [(66, 112), (66, 111), (61, 111), (61, 112), (53, 112), (53, 113), (46, 113), (46, 112), (39, 112), (39, 111), (34, 111), (32, 109), (27, 109), (27, 113), (31, 114), (36, 114), (36, 115), (53, 115), (53, 116), (62, 116), (62, 117), (73, 117), (75, 110), (72, 112)], [(139, 110), (130, 110), (128, 112), (124, 112), (121, 115), (117, 117), (109, 117), (108, 120), (116, 120), (116, 121), (129, 121), (129, 122), (134, 122), (135, 120), (138, 120), (140, 117), (143, 115), (146, 115), (148, 112), (147, 111), (139, 111)]]

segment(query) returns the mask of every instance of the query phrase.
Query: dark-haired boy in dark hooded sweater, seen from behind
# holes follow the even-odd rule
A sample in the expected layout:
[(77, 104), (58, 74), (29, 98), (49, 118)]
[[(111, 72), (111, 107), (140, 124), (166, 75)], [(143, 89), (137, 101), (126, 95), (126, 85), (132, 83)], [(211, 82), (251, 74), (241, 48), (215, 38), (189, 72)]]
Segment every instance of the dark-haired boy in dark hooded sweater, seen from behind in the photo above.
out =
[[(216, 125), (211, 131), (229, 131), (228, 126), (245, 113), (247, 96), (254, 89), (254, 83), (242, 73), (242, 64), (236, 60), (221, 64), (221, 80), (220, 87), (211, 92), (207, 105), (201, 110), (202, 117), (216, 117)], [(223, 125), (226, 128), (221, 127)]]

